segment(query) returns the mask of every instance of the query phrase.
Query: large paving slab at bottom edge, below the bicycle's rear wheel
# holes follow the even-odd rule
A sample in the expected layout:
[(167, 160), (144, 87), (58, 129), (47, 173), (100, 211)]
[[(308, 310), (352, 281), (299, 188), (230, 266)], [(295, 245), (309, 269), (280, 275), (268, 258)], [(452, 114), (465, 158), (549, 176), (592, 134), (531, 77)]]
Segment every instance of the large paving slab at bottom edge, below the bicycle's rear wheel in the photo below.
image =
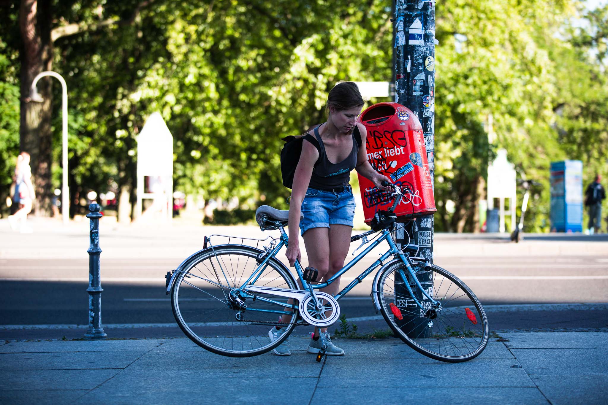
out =
[[(264, 403), (306, 404), (316, 378), (201, 378), (201, 370), (126, 369), (77, 404)], [(136, 395), (134, 395), (136, 393)]]

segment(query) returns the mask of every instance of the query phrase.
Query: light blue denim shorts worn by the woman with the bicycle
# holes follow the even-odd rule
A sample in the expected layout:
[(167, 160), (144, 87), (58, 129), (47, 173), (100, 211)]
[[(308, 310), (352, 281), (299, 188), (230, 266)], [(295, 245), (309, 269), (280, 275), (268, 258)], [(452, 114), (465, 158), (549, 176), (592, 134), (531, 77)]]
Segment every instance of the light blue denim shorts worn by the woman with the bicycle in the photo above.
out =
[(334, 223), (353, 226), (353, 193), (348, 189), (334, 192), (309, 188), (302, 201), (302, 216), (302, 235), (311, 228), (329, 228)]

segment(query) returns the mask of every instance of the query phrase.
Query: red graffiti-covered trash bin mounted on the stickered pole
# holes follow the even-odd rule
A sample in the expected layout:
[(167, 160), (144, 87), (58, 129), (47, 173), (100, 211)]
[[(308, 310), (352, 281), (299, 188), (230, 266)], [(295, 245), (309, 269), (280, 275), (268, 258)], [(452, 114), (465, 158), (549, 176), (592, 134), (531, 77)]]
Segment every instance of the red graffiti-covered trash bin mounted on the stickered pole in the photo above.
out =
[[(359, 122), (367, 129), (367, 158), (376, 171), (390, 177), (405, 196), (395, 213), (418, 217), (437, 211), (429, 162), (420, 121), (410, 109), (397, 103), (378, 103), (365, 109)], [(390, 192), (380, 192), (359, 175), (365, 222), (379, 209), (392, 205)]]

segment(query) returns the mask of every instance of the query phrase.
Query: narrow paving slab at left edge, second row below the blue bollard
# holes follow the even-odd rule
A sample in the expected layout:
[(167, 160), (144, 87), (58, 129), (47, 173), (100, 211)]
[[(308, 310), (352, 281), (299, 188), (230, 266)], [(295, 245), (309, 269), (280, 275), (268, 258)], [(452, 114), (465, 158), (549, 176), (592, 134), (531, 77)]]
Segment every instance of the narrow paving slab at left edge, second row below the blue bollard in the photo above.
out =
[(124, 369), (148, 350), (103, 352), (2, 353), (1, 370)]

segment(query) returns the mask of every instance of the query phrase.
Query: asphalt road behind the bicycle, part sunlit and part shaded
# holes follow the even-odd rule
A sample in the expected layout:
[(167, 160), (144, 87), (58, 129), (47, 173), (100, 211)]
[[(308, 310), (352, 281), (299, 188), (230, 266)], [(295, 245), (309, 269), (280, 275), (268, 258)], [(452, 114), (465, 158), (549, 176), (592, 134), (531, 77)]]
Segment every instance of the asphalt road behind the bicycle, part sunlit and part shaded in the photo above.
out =
[[(443, 257), (436, 261), (477, 294), (488, 309), (491, 330), (608, 328), (608, 305), (602, 305), (608, 301), (608, 253), (584, 257)], [(88, 283), (55, 273), (58, 268), (82, 271), (88, 265), (85, 260), (4, 259), (1, 263), (3, 270), (27, 276), (5, 277), (0, 282), (0, 325), (53, 326), (0, 326), (0, 338), (82, 336), (82, 327), (59, 325), (88, 324)], [(176, 259), (108, 259), (102, 263), (102, 321), (112, 325), (105, 328), (109, 336), (184, 336), (178, 327), (169, 326), (175, 321), (164, 288), (164, 274), (178, 264)], [(358, 264), (345, 274), (342, 285), (365, 267)], [(104, 277), (104, 273), (110, 275)], [(372, 276), (340, 301), (342, 313), (355, 319), (351, 322), (362, 332), (387, 328), (369, 298)], [(300, 327), (297, 332), (306, 333), (306, 329)]]

